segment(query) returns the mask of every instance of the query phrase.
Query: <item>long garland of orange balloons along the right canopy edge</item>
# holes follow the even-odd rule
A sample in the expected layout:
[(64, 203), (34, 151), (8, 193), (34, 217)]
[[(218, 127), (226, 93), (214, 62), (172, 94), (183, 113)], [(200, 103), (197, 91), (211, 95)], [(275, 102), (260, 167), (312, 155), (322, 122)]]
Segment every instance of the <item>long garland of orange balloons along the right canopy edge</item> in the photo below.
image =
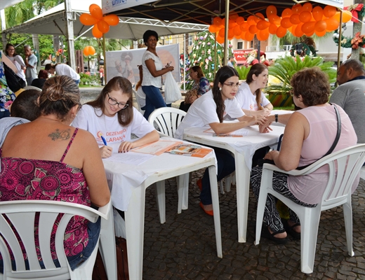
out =
[[(275, 34), (279, 38), (284, 37), (290, 31), (296, 37), (303, 35), (324, 36), (326, 32), (338, 29), (340, 25), (340, 12), (333, 6), (313, 8), (312, 3), (294, 5), (291, 9), (286, 8), (277, 15), (275, 6), (266, 8), (267, 19), (262, 13), (250, 15), (247, 20), (239, 16), (234, 16), (228, 20), (228, 39), (241, 38), (245, 41), (252, 41), (257, 36), (258, 40), (265, 41), (270, 34)], [(351, 20), (352, 14), (348, 10), (343, 11), (343, 22)], [(209, 26), (209, 31), (216, 33), (218, 43), (224, 43), (225, 39), (225, 19), (213, 18), (213, 25)]]

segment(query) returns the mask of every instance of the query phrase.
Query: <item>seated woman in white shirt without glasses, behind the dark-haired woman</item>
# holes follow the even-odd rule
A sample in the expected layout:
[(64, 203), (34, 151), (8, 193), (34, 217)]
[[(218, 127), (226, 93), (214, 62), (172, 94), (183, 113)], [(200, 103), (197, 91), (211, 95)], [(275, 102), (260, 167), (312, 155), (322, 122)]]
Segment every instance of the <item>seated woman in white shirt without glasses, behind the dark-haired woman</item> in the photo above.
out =
[(254, 64), (248, 71), (246, 81), (236, 94), (239, 106), (248, 116), (269, 116), (274, 108), (261, 89), (266, 87), (269, 71), (265, 64)]

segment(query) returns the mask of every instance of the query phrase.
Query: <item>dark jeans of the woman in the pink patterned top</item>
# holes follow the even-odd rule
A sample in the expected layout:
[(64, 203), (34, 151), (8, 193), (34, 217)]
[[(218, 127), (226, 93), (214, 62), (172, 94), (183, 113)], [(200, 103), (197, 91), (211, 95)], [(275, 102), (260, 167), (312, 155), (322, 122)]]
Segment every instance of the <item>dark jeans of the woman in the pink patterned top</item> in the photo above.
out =
[[(85, 260), (87, 260), (91, 253), (93, 253), (94, 248), (96, 246), (96, 243), (98, 242), (100, 235), (100, 217), (98, 218), (98, 221), (95, 223), (88, 222), (88, 244), (84, 248), (84, 250), (79, 253), (78, 255), (72, 255), (71, 257), (67, 257), (67, 260), (69, 262), (69, 267), (71, 267), (72, 271), (77, 268), (79, 265), (81, 265)], [(12, 267), (13, 270), (16, 269), (15, 261), (12, 260)], [(56, 267), (60, 267), (60, 262), (58, 260), (53, 260)], [(45, 269), (44, 262), (40, 261), (39, 265), (41, 265), (42, 269)], [(25, 260), (25, 269), (29, 269), (29, 262), (28, 260)], [(4, 262), (3, 260), (0, 260), (0, 273), (4, 273)]]

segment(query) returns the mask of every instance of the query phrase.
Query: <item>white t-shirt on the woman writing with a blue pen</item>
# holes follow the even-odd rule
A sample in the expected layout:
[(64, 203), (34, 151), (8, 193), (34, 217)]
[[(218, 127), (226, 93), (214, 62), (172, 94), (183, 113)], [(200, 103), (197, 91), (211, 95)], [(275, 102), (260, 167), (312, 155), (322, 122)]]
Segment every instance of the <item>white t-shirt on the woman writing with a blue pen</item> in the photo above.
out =
[(154, 127), (134, 107), (132, 123), (127, 127), (119, 124), (117, 114), (114, 117), (107, 117), (99, 108), (93, 108), (90, 105), (82, 106), (72, 126), (91, 132), (99, 146), (104, 145), (101, 136), (105, 138), (107, 144), (114, 144), (131, 141), (132, 133), (141, 138), (154, 131)]

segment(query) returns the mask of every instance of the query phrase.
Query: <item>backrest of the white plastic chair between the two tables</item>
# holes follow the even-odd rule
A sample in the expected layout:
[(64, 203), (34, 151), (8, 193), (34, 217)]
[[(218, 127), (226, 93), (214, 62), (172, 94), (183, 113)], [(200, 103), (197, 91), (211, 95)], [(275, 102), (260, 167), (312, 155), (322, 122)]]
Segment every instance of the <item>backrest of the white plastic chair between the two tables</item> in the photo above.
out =
[(154, 110), (148, 121), (150, 124), (157, 124), (160, 137), (173, 137), (175, 131), (178, 129), (183, 118), (186, 116), (186, 112), (180, 109), (171, 107), (162, 107)]

